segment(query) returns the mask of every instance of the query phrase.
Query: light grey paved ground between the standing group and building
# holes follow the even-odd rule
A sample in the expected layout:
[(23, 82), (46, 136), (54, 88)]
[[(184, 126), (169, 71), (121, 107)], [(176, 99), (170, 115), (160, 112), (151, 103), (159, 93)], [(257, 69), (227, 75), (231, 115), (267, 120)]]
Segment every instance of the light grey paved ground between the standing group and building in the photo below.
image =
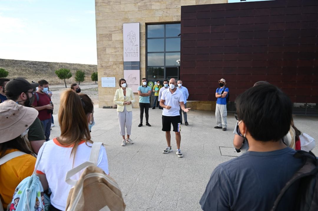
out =
[[(241, 154), (232, 145), (235, 117), (228, 115), (228, 130), (222, 131), (213, 128), (213, 111), (191, 110), (189, 126), (183, 124), (181, 129), (183, 158), (178, 158), (174, 132), (173, 152), (162, 153), (167, 144), (161, 131), (161, 115), (161, 110), (150, 109), (151, 127), (139, 128), (139, 109), (133, 109), (134, 144), (123, 147), (116, 109), (95, 106), (92, 140), (106, 144), (109, 172), (121, 187), (126, 210), (201, 210), (199, 200), (213, 169)], [(56, 127), (52, 128), (51, 138), (60, 134), (57, 115), (54, 118)], [(294, 122), (298, 129), (318, 140), (318, 117), (294, 116)], [(318, 147), (313, 152), (318, 155)]]

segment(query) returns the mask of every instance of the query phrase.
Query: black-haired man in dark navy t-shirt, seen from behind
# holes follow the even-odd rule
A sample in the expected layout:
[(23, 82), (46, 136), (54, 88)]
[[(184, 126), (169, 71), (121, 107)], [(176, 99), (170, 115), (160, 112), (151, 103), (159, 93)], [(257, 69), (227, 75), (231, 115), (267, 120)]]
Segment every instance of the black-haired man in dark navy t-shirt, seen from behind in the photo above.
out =
[[(290, 98), (274, 85), (252, 87), (236, 98), (238, 134), (248, 151), (212, 172), (200, 200), (203, 210), (271, 210), (280, 190), (301, 168), (302, 159), (282, 138), (292, 119)], [(299, 183), (292, 185), (276, 210), (295, 210)]]

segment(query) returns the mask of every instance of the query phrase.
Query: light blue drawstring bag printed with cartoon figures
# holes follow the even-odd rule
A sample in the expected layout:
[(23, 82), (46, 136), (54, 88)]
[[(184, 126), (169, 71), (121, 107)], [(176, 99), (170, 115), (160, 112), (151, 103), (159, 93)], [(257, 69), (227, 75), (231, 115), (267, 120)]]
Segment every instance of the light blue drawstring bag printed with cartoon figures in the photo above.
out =
[[(43, 148), (46, 142), (43, 143)], [(14, 191), (11, 204), (8, 210), (16, 211), (48, 211), (50, 198), (44, 194), (40, 179), (35, 175), (38, 163), (41, 159), (42, 152), (39, 152), (38, 159), (35, 163), (33, 174), (22, 180)]]

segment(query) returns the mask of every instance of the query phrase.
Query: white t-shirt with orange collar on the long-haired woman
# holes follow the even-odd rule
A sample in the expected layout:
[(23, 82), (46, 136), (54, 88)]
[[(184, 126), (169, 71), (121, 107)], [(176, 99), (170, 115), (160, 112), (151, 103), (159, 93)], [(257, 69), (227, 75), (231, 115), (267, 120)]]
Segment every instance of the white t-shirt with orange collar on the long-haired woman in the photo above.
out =
[[(84, 141), (78, 145), (74, 165), (74, 155), (71, 155), (72, 147), (62, 146), (56, 138), (46, 142), (44, 150), (43, 146), (39, 150), (43, 150), (43, 153), (37, 173), (45, 174), (52, 191), (51, 204), (57, 209), (65, 210), (67, 196), (72, 188), (72, 186), (65, 181), (66, 172), (89, 160), (92, 144), (87, 143), (87, 145)], [(106, 174), (109, 174), (107, 154), (104, 146), (100, 148), (97, 166)], [(71, 179), (79, 180), (83, 171), (84, 169), (71, 177)]]

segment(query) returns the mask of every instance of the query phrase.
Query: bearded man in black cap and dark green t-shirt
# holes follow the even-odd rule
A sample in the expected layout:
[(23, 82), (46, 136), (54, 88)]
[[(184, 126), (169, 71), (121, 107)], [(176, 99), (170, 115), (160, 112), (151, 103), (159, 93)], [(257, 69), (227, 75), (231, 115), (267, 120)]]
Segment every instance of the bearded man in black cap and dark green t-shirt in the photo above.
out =
[[(31, 107), (35, 99), (34, 89), (38, 83), (29, 83), (24, 78), (10, 80), (5, 86), (5, 94), (9, 100), (13, 100), (20, 105)], [(39, 118), (36, 118), (28, 131), (29, 147), (35, 154), (45, 142), (44, 128)], [(27, 142), (28, 143), (28, 142)]]

